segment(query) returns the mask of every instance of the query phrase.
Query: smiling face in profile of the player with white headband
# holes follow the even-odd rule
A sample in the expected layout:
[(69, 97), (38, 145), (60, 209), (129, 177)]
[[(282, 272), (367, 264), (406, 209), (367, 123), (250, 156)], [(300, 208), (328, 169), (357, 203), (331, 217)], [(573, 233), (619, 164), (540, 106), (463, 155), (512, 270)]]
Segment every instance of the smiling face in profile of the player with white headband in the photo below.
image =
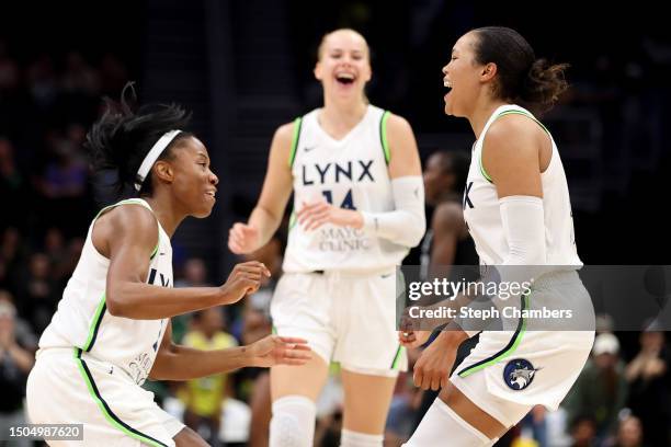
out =
[(186, 215), (209, 216), (219, 179), (209, 170), (207, 149), (190, 136), (179, 140), (171, 152), (172, 157), (153, 165), (158, 180), (170, 184), (173, 199)]

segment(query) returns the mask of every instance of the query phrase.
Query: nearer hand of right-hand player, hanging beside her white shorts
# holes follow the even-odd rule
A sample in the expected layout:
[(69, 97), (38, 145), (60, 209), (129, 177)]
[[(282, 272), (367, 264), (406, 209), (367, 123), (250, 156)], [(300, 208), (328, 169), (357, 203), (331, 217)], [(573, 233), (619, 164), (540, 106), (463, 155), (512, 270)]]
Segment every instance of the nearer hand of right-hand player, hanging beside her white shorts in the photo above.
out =
[(458, 344), (443, 340), (445, 332), (441, 333), (420, 355), (414, 364), (412, 380), (414, 386), (423, 390), (431, 388), (437, 391), (447, 386), (450, 371), (456, 358)]

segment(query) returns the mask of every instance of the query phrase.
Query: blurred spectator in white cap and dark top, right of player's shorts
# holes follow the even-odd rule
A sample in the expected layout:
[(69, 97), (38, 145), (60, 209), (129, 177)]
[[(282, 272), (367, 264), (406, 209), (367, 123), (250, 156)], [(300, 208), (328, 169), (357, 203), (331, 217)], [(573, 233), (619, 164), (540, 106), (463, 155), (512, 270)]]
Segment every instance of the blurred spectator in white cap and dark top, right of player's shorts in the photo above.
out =
[(575, 425), (579, 415), (592, 415), (598, 439), (605, 439), (615, 433), (617, 414), (625, 405), (627, 390), (617, 337), (610, 333), (599, 334), (592, 347), (592, 358), (564, 401), (569, 426)]

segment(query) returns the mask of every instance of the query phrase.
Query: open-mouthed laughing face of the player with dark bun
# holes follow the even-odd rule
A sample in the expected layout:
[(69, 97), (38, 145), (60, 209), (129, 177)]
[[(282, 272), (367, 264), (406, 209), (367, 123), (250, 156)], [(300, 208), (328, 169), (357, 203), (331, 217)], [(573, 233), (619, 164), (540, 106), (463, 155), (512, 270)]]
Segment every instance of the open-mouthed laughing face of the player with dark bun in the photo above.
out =
[[(443, 67), (445, 114), (469, 116), (482, 89), (490, 89), (496, 67), (476, 61), (477, 34), (464, 34), (452, 48), (450, 62)], [(493, 70), (493, 72), (492, 72)]]

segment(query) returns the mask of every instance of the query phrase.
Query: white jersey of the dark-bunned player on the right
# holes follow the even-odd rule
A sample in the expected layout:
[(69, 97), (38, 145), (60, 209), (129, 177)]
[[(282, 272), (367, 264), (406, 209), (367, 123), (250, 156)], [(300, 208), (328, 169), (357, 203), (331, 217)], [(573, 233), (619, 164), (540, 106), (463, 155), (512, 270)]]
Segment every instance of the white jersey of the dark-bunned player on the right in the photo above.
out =
[[(482, 168), (482, 142), (491, 124), (508, 114), (522, 114), (534, 119), (549, 131), (531, 112), (519, 105), (507, 104), (497, 108), (489, 117), (480, 138), (475, 142), (466, 190), (464, 192), (464, 218), (473, 237), (480, 263), (502, 265), (509, 253), (508, 241), (501, 221), (499, 196), (491, 179)], [(549, 165), (541, 174), (543, 209), (545, 213), (546, 265), (571, 265), (579, 268), (582, 262), (576, 251), (573, 217), (569, 190), (555, 140)]]

